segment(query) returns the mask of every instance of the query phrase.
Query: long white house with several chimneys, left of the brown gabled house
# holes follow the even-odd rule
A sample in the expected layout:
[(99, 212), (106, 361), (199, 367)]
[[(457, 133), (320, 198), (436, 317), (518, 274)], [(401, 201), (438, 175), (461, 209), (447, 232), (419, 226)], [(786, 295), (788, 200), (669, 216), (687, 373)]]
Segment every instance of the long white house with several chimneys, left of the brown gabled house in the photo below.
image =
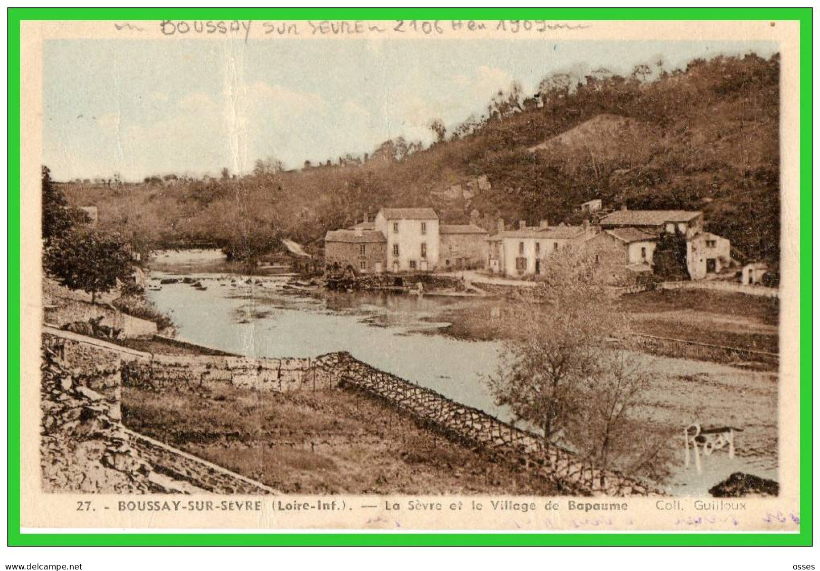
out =
[(499, 221), (499, 231), (488, 239), (490, 270), (503, 276), (538, 276), (550, 254), (580, 246), (594, 234), (595, 229), (587, 225), (549, 226), (546, 220), (539, 226), (526, 226), (522, 220), (517, 230), (504, 231)]

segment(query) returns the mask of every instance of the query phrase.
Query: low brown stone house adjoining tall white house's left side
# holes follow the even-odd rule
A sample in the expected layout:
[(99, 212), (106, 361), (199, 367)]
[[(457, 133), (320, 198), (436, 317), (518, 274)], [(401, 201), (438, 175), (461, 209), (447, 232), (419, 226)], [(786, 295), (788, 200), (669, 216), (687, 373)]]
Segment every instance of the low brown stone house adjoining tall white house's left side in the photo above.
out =
[(378, 230), (353, 227), (325, 235), (325, 267), (330, 272), (381, 273), (386, 267), (387, 240)]

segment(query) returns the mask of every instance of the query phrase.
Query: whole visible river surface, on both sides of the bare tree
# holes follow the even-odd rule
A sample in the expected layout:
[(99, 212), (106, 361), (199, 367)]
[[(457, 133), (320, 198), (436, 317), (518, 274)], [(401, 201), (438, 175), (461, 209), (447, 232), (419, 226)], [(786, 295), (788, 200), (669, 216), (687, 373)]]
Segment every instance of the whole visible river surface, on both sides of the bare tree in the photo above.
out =
[[(153, 262), (147, 297), (169, 315), (177, 336), (198, 345), (254, 357), (316, 357), (348, 351), (386, 372), (429, 387), (504, 421), (510, 411), (494, 403), (488, 376), (501, 344), (447, 334), (443, 314), (467, 312), (490, 319), (479, 299), (367, 292), (293, 290), (289, 276), (231, 272), (216, 250), (161, 253)], [(201, 281), (199, 290), (181, 282)], [(163, 278), (179, 283), (160, 285)], [(686, 359), (645, 356), (654, 386), (642, 407), (681, 432), (691, 422), (745, 427), (745, 450), (733, 459), (713, 455), (704, 473), (679, 464), (665, 482), (675, 495), (707, 496), (708, 487), (733, 472), (777, 479), (777, 376)], [(693, 379), (702, 379), (693, 381)], [(681, 439), (682, 440), (682, 439)], [(674, 448), (680, 443), (670, 445)], [(682, 450), (681, 450), (682, 453)]]

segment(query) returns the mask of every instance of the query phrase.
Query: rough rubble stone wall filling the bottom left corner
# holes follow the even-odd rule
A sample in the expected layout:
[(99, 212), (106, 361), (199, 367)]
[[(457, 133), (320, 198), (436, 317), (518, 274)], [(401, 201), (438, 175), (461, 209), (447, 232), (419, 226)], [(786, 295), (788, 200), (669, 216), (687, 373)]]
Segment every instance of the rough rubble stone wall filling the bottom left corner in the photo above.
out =
[(43, 332), (42, 350), (43, 491), (277, 493), (122, 426), (121, 369), (150, 367), (150, 354), (59, 330)]

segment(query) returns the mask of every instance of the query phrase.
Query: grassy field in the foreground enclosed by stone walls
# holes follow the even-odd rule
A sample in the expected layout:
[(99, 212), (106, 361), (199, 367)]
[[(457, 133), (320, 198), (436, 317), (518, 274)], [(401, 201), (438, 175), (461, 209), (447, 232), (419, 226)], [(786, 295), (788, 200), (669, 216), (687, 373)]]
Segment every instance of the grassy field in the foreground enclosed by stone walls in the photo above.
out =
[(122, 400), (133, 430), (287, 493), (554, 493), (345, 391), (124, 387)]

